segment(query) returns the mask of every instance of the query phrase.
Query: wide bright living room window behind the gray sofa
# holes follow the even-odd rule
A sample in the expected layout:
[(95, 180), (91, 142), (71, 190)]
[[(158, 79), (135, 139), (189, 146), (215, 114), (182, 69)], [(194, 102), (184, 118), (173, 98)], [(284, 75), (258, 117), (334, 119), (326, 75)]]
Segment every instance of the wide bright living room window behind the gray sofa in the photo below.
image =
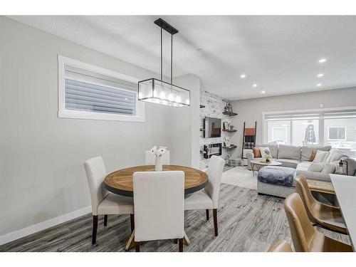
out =
[(356, 157), (356, 108), (265, 112), (263, 142), (310, 147), (331, 145)]

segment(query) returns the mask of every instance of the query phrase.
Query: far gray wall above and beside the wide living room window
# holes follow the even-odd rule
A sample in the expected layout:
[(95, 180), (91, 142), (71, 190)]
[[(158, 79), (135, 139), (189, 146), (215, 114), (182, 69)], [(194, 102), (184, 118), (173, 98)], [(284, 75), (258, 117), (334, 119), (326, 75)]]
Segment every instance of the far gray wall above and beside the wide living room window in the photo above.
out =
[(241, 157), (244, 122), (246, 122), (246, 127), (253, 127), (255, 121), (257, 121), (256, 142), (261, 143), (262, 112), (313, 109), (320, 108), (320, 104), (323, 104), (324, 108), (356, 106), (356, 88), (233, 101), (234, 112), (239, 113), (232, 120), (238, 130), (231, 139), (232, 142), (238, 145), (234, 152), (234, 157)]

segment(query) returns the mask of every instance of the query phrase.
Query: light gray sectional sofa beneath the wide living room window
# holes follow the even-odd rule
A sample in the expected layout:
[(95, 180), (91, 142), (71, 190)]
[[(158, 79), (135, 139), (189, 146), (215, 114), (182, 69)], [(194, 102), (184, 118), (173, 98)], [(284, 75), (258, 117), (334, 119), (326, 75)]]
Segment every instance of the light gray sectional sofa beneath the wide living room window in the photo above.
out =
[[(271, 150), (273, 160), (282, 163), (282, 167), (295, 168), (295, 176), (303, 174), (307, 179), (315, 179), (330, 182), (330, 173), (328, 172), (311, 172), (308, 170), (313, 162), (309, 159), (313, 153), (313, 150), (330, 151), (331, 146), (326, 147), (296, 147), (290, 145), (256, 145), (256, 147), (268, 147)], [(340, 152), (342, 155), (342, 152)], [(246, 152), (248, 169), (251, 169), (251, 159), (256, 159), (253, 152)], [(345, 159), (348, 162), (348, 175), (355, 175), (356, 161), (355, 159), (349, 160), (348, 157), (342, 155), (342, 157), (336, 157), (330, 164), (337, 165), (340, 159)], [(270, 194), (277, 197), (287, 197), (288, 194), (295, 192), (294, 182), (292, 187), (283, 187), (281, 185), (267, 184), (257, 181), (257, 192), (262, 194)]]

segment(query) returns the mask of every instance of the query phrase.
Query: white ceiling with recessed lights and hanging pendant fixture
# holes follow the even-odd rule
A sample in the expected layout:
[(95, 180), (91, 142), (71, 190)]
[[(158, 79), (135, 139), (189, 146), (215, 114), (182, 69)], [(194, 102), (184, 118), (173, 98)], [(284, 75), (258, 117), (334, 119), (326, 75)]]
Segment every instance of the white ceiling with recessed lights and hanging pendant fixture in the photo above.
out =
[[(159, 16), (11, 18), (159, 73), (159, 28), (153, 23)], [(174, 76), (199, 75), (206, 90), (224, 98), (356, 86), (356, 16), (162, 19), (179, 30), (174, 36)], [(164, 37), (164, 75), (169, 75), (169, 35)], [(318, 63), (320, 58), (327, 62)], [(246, 73), (245, 79), (241, 73)], [(318, 73), (325, 76), (318, 78)], [(253, 88), (253, 83), (258, 87)], [(317, 87), (318, 83), (322, 85)]]

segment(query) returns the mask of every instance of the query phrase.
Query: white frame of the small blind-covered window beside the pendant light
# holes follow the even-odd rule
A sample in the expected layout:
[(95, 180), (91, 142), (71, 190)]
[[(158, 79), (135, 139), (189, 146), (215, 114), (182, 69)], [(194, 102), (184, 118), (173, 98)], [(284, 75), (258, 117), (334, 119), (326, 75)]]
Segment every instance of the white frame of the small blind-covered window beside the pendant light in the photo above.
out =
[[(138, 81), (140, 80), (138, 78), (133, 78), (131, 76), (122, 73), (116, 73), (115, 71), (112, 70), (107, 70), (105, 68), (93, 66), (88, 63), (76, 61), (73, 58), (67, 58), (66, 56), (58, 55), (58, 117), (60, 118), (65, 117), (70, 119), (85, 119), (85, 120), (119, 120), (125, 122), (145, 122), (145, 103), (143, 101), (138, 100), (138, 92), (125, 90), (122, 88), (120, 88), (120, 90), (130, 91), (130, 93), (135, 93), (135, 98), (136, 98), (135, 115), (121, 115), (121, 114), (110, 114), (110, 113), (66, 109), (65, 65), (81, 68), (83, 70), (93, 71), (95, 73), (100, 73), (103, 75), (108, 75), (111, 77), (119, 78), (121, 80), (127, 80), (132, 83), (138, 83)], [(98, 83), (93, 83), (93, 84), (100, 85)], [(105, 87), (114, 88), (108, 85), (105, 85)]]

